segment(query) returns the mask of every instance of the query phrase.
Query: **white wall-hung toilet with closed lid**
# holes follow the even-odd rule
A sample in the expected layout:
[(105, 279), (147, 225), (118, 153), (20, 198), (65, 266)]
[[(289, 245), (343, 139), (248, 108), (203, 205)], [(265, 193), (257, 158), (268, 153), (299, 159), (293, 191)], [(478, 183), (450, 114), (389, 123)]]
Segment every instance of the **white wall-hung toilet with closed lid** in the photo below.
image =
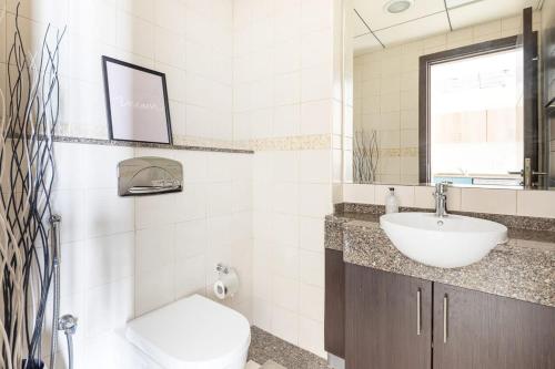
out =
[(131, 320), (125, 337), (164, 369), (243, 369), (251, 329), (235, 310), (192, 295)]

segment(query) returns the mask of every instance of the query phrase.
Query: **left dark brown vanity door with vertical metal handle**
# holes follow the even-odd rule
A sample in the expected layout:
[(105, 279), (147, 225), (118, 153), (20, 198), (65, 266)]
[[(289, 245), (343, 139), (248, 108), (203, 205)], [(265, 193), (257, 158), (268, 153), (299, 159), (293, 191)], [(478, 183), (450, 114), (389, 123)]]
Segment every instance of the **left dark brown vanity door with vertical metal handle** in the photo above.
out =
[(430, 369), (432, 283), (345, 264), (349, 369)]

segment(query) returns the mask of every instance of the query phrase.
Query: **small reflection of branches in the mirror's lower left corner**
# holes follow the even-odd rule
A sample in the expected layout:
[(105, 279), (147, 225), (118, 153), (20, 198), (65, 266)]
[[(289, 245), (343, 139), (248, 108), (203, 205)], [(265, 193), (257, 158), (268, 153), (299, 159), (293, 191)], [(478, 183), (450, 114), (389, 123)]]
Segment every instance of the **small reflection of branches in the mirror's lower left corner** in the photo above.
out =
[(364, 129), (356, 131), (353, 150), (353, 181), (355, 183), (374, 183), (379, 163), (377, 132), (375, 130), (365, 132)]

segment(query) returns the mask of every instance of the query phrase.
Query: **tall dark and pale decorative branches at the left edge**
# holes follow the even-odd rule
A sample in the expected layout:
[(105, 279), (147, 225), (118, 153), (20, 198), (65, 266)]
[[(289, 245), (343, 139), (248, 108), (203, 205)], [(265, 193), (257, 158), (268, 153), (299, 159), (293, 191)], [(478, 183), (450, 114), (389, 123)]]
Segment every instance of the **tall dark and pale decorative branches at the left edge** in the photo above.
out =
[[(52, 284), (49, 219), (59, 117), (60, 43), (48, 27), (41, 50), (26, 50), (19, 25), (8, 57), (0, 136), (0, 368), (42, 368), (41, 345)], [(8, 101), (6, 104), (4, 102)], [(56, 329), (56, 327), (54, 327)]]

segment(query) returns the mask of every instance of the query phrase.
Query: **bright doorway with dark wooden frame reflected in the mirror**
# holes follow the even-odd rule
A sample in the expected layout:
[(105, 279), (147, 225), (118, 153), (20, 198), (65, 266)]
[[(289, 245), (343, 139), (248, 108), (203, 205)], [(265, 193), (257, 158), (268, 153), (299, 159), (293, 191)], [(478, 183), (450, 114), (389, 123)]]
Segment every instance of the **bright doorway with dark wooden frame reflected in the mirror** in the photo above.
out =
[(421, 58), (421, 182), (521, 184), (523, 50), (516, 41)]

